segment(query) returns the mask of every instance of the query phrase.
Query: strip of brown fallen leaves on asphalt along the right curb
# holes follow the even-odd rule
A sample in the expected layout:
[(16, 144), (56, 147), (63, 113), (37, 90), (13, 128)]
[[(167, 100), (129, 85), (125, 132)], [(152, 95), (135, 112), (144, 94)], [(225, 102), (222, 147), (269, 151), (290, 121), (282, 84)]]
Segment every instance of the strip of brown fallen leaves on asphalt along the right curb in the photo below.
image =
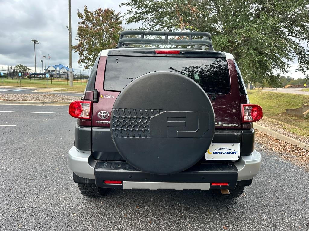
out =
[(281, 158), (301, 165), (309, 171), (309, 150), (298, 148), (296, 145), (278, 140), (259, 131), (256, 131), (255, 141), (258, 144), (255, 147), (258, 151), (259, 149), (273, 150), (273, 153)]

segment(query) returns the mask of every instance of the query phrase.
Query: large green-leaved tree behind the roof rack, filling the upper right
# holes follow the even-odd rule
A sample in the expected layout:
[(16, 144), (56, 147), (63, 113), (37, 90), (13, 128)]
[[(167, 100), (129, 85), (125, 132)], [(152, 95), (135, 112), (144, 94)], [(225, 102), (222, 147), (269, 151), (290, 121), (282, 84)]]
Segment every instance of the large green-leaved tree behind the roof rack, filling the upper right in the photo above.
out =
[(144, 30), (207, 31), (214, 49), (234, 55), (246, 82), (288, 73), (309, 77), (307, 0), (129, 0), (127, 23)]

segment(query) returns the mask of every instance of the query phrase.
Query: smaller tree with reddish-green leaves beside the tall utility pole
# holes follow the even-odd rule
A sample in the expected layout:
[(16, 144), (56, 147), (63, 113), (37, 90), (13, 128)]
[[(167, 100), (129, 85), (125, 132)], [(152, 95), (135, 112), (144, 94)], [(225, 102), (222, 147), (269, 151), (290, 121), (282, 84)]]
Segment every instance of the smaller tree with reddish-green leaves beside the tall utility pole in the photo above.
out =
[(78, 44), (72, 48), (78, 52), (78, 64), (85, 64), (88, 69), (93, 66), (100, 51), (116, 47), (122, 30), (121, 16), (112, 9), (90, 11), (87, 6), (83, 13), (78, 10), (77, 16), (81, 19), (76, 35)]

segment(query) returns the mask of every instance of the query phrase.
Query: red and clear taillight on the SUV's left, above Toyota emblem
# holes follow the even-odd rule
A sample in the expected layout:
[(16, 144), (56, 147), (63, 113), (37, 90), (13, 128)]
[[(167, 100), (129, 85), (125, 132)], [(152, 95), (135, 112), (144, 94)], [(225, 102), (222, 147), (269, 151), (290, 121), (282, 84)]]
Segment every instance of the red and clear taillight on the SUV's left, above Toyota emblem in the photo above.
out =
[(74, 101), (70, 103), (69, 114), (78, 119), (90, 119), (91, 101)]

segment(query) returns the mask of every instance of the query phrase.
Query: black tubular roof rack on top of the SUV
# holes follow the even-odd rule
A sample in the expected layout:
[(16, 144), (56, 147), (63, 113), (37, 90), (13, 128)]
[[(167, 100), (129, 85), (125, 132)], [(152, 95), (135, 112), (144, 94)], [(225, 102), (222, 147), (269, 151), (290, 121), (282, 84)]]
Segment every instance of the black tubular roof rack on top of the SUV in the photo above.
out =
[[(127, 38), (126, 35), (140, 35), (140, 38)], [(164, 36), (164, 39), (144, 39), (144, 35)], [(168, 36), (188, 36), (188, 39), (168, 39)], [(202, 39), (192, 39), (192, 36), (203, 36)], [(125, 30), (120, 33), (116, 47), (126, 47), (132, 44), (142, 45), (184, 45), (184, 46), (208, 46), (214, 50), (211, 34), (201, 31), (147, 31), (147, 30)]]

